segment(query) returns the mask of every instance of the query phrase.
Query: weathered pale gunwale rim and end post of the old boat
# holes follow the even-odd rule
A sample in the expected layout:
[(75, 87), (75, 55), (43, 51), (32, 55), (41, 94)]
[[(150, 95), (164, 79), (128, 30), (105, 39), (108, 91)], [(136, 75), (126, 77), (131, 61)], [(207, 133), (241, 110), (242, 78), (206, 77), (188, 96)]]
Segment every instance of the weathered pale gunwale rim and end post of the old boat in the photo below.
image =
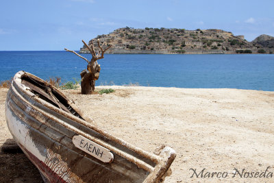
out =
[[(34, 80), (38, 80), (39, 82), (42, 82), (45, 84), (47, 84), (47, 82), (45, 82), (44, 80), (40, 79), (39, 77), (32, 75), (31, 73), (26, 73), (25, 71), (18, 71), (18, 73), (16, 73), (14, 75), (14, 78), (12, 80), (12, 84), (11, 87), (12, 88), (18, 88), (18, 91), (21, 91), (24, 95), (27, 95), (27, 97), (23, 97), (23, 100), (25, 100), (26, 103), (29, 103), (29, 105), (32, 106), (32, 108), (34, 108), (34, 110), (37, 110), (38, 112), (41, 112), (43, 115), (48, 116), (50, 119), (52, 119), (52, 117), (49, 116), (49, 114), (47, 114), (47, 112), (44, 112), (42, 109), (40, 109), (38, 106), (35, 106), (35, 103), (30, 103), (29, 99), (33, 99), (34, 101), (36, 101), (37, 103), (39, 103), (42, 106), (45, 106), (46, 108), (49, 108), (49, 110), (53, 110), (54, 112), (57, 112), (59, 114), (62, 114), (64, 117), (66, 117), (67, 119), (71, 119), (81, 125), (84, 125), (88, 128), (90, 128), (91, 130), (94, 130), (95, 132), (101, 134), (102, 136), (105, 136), (106, 138), (109, 138), (111, 141), (115, 141), (116, 143), (118, 143), (119, 145), (122, 145), (123, 147), (126, 147), (132, 151), (135, 151), (137, 154), (140, 154), (141, 156), (152, 160), (153, 162), (155, 162), (155, 167), (151, 167), (151, 165), (147, 164), (146, 162), (143, 162), (140, 159), (136, 159), (134, 156), (125, 153), (124, 151), (121, 151), (120, 149), (117, 149), (116, 147), (112, 147), (112, 145), (108, 145), (105, 142), (100, 142), (101, 140), (93, 137), (91, 135), (87, 135), (84, 132), (82, 132), (81, 130), (78, 130), (76, 127), (74, 126), (67, 126), (68, 124), (64, 124), (62, 123), (62, 121), (59, 119), (55, 119), (53, 117), (53, 121), (59, 123), (60, 125), (63, 125), (64, 127), (68, 127), (70, 130), (72, 130), (73, 132), (76, 132), (77, 134), (81, 134), (82, 136), (85, 136), (86, 138), (90, 139), (91, 141), (95, 141), (95, 143), (98, 143), (99, 145), (102, 145), (105, 148), (110, 149), (111, 151), (114, 151), (114, 153), (118, 154), (119, 156), (122, 156), (123, 158), (126, 158), (127, 160), (129, 160), (130, 162), (133, 162), (134, 164), (136, 164), (138, 167), (145, 169), (146, 171), (149, 171), (149, 176), (147, 177), (147, 179), (145, 180), (145, 182), (151, 182), (151, 180), (158, 180), (159, 175), (160, 177), (162, 177), (162, 175), (164, 175), (164, 173), (166, 173), (166, 171), (169, 169), (171, 163), (173, 162), (176, 154), (175, 151), (173, 149), (171, 149), (170, 147), (165, 147), (163, 149), (164, 153), (161, 153), (160, 155), (156, 155), (156, 154), (152, 154), (150, 152), (144, 151), (142, 149), (140, 149), (139, 147), (136, 147), (134, 145), (131, 145), (130, 143), (127, 143), (125, 141), (123, 141), (123, 139), (121, 138), (117, 138), (115, 136), (112, 136), (111, 134), (109, 134), (108, 132), (105, 132), (104, 130), (99, 129), (99, 127), (97, 127), (94, 123), (94, 121), (89, 121), (91, 123), (88, 123), (86, 120), (86, 116), (83, 115), (83, 112), (81, 112), (79, 110), (79, 108), (77, 108), (77, 106), (75, 106), (75, 104), (73, 103), (73, 101), (69, 100), (66, 96), (64, 96), (57, 88), (55, 88), (54, 86), (52, 86), (51, 89), (55, 90), (55, 92), (57, 92), (59, 95), (61, 95), (62, 97), (64, 97), (64, 99), (66, 99), (66, 101), (68, 102), (68, 104), (76, 111), (78, 112), (81, 116), (85, 116), (83, 117), (84, 119), (80, 119), (78, 117), (75, 117), (73, 114), (66, 112), (60, 108), (57, 108), (56, 106), (54, 106), (51, 103), (48, 103), (47, 101), (44, 101), (42, 99), (40, 99), (38, 96), (36, 96), (34, 93), (31, 92), (31, 89), (28, 88), (27, 86), (25, 86), (24, 84), (22, 84), (22, 77), (27, 75), (27, 77), (32, 77), (32, 79)], [(14, 92), (18, 92), (17, 90)], [(20, 97), (20, 96), (18, 96)], [(29, 99), (28, 99), (29, 98)], [(93, 122), (93, 123), (92, 123)], [(90, 138), (91, 137), (91, 138)], [(99, 141), (98, 141), (99, 140)], [(153, 181), (153, 182), (154, 182)]]

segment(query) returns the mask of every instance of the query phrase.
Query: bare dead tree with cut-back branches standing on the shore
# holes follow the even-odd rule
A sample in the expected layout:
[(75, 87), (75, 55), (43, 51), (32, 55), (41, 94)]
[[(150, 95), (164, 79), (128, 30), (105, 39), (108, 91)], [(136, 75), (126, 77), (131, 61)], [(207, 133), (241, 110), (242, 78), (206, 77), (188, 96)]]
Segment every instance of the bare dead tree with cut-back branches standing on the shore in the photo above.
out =
[[(82, 59), (86, 60), (86, 62), (88, 62), (87, 69), (85, 69), (84, 71), (82, 71), (80, 73), (81, 78), (82, 78), (81, 93), (82, 94), (90, 94), (90, 93), (94, 92), (94, 90), (95, 90), (95, 81), (99, 79), (99, 73), (101, 71), (100, 64), (98, 64), (97, 60), (102, 59), (105, 51), (110, 49), (110, 47), (112, 47), (112, 45), (108, 46), (106, 49), (103, 49), (100, 45), (100, 40), (98, 39), (97, 44), (98, 44), (98, 47), (100, 50), (97, 51), (97, 53), (95, 53), (95, 49), (94, 49), (92, 40), (91, 40), (90, 46), (88, 46), (86, 44), (86, 42), (84, 42), (84, 40), (82, 40), (82, 42), (88, 48), (88, 51), (90, 51), (90, 53), (92, 55), (92, 58), (90, 61), (88, 61), (88, 59), (80, 56), (75, 51), (71, 51), (66, 48), (64, 50), (75, 53), (75, 55), (79, 56), (80, 58), (82, 58)], [(100, 55), (100, 52), (101, 52), (101, 55)]]

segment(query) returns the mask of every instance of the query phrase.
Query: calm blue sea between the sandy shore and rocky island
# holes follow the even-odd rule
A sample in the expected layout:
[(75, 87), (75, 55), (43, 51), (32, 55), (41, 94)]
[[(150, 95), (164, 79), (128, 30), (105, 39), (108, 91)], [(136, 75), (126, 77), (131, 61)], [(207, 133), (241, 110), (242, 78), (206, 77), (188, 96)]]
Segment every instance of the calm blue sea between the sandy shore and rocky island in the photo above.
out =
[[(90, 60), (90, 54), (82, 54)], [(140, 84), (178, 88), (239, 88), (274, 91), (274, 55), (120, 55), (98, 61), (96, 85)], [(17, 71), (44, 80), (80, 80), (86, 61), (66, 51), (0, 51), (0, 81)]]

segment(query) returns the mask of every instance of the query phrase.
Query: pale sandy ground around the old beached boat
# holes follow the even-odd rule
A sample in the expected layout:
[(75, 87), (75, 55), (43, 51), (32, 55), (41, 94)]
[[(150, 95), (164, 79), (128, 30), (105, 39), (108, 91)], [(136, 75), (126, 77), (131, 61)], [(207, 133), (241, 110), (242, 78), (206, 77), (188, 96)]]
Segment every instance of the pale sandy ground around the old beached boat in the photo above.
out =
[[(165, 182), (274, 182), (274, 92), (99, 88), (113, 88), (115, 92), (62, 92), (101, 129), (147, 151), (153, 152), (162, 144), (175, 149), (173, 173)], [(7, 91), (0, 88), (0, 149), (12, 139), (5, 123)], [(23, 154), (0, 153), (0, 182), (41, 181), (38, 171)]]

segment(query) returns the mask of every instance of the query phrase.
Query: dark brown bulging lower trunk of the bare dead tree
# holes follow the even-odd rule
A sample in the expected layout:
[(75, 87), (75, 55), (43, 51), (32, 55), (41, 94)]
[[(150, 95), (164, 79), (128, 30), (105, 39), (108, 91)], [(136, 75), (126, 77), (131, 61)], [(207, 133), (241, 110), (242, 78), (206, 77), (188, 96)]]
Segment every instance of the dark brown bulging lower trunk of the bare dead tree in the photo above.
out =
[(92, 77), (92, 73), (86, 71), (81, 72), (82, 82), (81, 82), (81, 93), (88, 95), (95, 90), (95, 80)]

